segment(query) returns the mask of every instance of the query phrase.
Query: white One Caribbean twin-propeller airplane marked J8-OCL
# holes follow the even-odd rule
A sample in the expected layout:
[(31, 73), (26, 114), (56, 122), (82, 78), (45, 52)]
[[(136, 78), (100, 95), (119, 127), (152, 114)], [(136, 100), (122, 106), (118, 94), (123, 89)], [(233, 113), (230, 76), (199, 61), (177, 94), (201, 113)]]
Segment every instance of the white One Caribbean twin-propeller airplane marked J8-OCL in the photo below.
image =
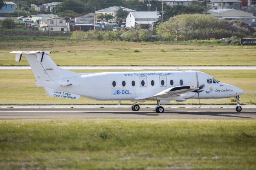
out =
[(12, 51), (16, 61), (25, 54), (36, 77), (36, 85), (44, 87), (52, 97), (79, 99), (80, 96), (99, 101), (132, 101), (132, 111), (138, 111), (137, 102), (157, 101), (156, 112), (163, 113), (161, 104), (171, 100), (215, 99), (235, 97), (236, 111), (240, 112), (239, 95), (243, 90), (221, 83), (200, 71), (143, 71), (75, 73), (58, 67), (49, 57), (50, 51)]

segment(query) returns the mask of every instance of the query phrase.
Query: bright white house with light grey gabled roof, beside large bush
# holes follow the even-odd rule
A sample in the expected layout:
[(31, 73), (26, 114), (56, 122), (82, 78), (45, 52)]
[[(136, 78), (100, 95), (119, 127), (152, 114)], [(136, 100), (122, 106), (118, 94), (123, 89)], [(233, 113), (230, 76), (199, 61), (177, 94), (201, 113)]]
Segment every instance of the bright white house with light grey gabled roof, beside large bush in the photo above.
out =
[(140, 27), (153, 29), (154, 22), (160, 17), (157, 11), (136, 11), (130, 12), (126, 18), (126, 27)]

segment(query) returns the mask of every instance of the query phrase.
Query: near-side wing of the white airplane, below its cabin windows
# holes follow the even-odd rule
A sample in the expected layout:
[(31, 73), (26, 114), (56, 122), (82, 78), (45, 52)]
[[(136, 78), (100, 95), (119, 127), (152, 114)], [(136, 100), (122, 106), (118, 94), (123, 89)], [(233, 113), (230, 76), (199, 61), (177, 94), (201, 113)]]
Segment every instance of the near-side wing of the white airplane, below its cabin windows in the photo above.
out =
[(148, 99), (152, 97), (174, 97), (174, 96), (178, 96), (184, 93), (197, 91), (197, 90), (199, 90), (199, 88), (192, 87), (192, 86), (176, 86), (176, 87), (170, 87), (168, 89), (165, 89), (155, 95), (137, 97), (136, 100)]

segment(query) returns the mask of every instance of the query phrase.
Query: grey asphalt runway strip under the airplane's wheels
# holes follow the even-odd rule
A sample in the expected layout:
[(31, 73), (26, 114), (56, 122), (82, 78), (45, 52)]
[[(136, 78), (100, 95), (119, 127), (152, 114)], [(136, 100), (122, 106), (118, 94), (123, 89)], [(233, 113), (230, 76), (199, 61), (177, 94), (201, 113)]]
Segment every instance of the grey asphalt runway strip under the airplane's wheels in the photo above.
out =
[(156, 113), (150, 107), (132, 111), (130, 108), (1, 108), (0, 119), (59, 119), (59, 118), (108, 118), (108, 119), (256, 119), (255, 108), (165, 108)]

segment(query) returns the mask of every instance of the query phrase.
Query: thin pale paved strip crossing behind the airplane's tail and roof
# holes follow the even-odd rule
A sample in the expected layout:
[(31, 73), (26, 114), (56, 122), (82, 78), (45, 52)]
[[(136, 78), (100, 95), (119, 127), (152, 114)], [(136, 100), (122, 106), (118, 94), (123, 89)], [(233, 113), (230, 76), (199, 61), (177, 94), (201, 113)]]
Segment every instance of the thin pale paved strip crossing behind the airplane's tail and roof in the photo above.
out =
[[(68, 70), (176, 70), (173, 66), (60, 66)], [(0, 66), (0, 70), (28, 70), (30, 66)], [(256, 70), (256, 66), (181, 66), (180, 70)]]

